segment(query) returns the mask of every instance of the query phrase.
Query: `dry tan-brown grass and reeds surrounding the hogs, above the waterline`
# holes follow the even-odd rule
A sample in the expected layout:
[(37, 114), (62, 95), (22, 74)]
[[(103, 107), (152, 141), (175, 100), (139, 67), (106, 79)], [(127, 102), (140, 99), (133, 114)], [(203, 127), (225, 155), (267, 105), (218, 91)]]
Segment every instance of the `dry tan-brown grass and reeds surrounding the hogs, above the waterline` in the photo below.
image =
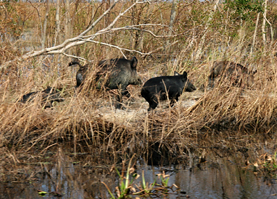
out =
[[(70, 12), (72, 34), (78, 35), (97, 19), (105, 11), (104, 4), (76, 4)], [(0, 62), (39, 49), (42, 27), (37, 12), (44, 16), (44, 5), (0, 5), (0, 17), (5, 19), (0, 22)], [(121, 6), (129, 4), (118, 3), (92, 32), (109, 24), (118, 15)], [(95, 159), (107, 163), (118, 156), (132, 153), (148, 155), (148, 149), (156, 143), (159, 143), (159, 147), (166, 146), (170, 157), (177, 157), (187, 155), (188, 150), (199, 145), (213, 147), (222, 140), (229, 141), (229, 137), (239, 140), (244, 136), (251, 139), (249, 135), (257, 135), (259, 139), (264, 139), (274, 135), (277, 95), (276, 58), (272, 52), (276, 46), (263, 46), (262, 38), (257, 37), (256, 51), (250, 54), (253, 20), (240, 24), (239, 19), (228, 17), (232, 14), (228, 9), (215, 12), (210, 21), (211, 27), (205, 31), (202, 23), (206, 21), (205, 16), (211, 14), (211, 6), (198, 1), (188, 6), (180, 1), (173, 27), (175, 34), (166, 37), (168, 27), (157, 24), (168, 24), (171, 4), (141, 3), (118, 20), (116, 27), (141, 23), (156, 25), (109, 32), (100, 35), (98, 41), (130, 49), (124, 51), (124, 55), (127, 58), (136, 55), (139, 61), (137, 72), (144, 82), (154, 76), (186, 70), (188, 78), (199, 88), (208, 85), (214, 60), (230, 60), (246, 67), (255, 67), (255, 87), (251, 90), (222, 83), (220, 87), (208, 91), (183, 94), (175, 107), (157, 108), (157, 112), (147, 113), (148, 104), (139, 96), (141, 86), (129, 85), (134, 101), (125, 103), (126, 110), (115, 110), (114, 94), (100, 92), (91, 86), (96, 74), (94, 66), (88, 78), (91, 82), (88, 81), (82, 91), (75, 91), (76, 69), (67, 67), (69, 58), (64, 55), (42, 55), (13, 63), (0, 74), (0, 146), (20, 148), (21, 152), (39, 147), (39, 152), (46, 152), (57, 144), (69, 143), (75, 152), (90, 150)], [(220, 6), (223, 8), (223, 5)], [(54, 10), (55, 5), (51, 5), (46, 46), (55, 44)], [(272, 5), (267, 13), (269, 21), (275, 20), (275, 13), (276, 8)], [(64, 29), (63, 25), (61, 28)], [(142, 28), (149, 32), (143, 32)], [(150, 31), (161, 37), (154, 37)], [(204, 33), (206, 39), (202, 55), (200, 60), (195, 60), (193, 55), (200, 47)], [(260, 28), (258, 33), (261, 33)], [(29, 34), (31, 37), (28, 37)], [(170, 46), (163, 49), (166, 40)], [(92, 60), (94, 64), (99, 60), (122, 57), (118, 49), (96, 43), (74, 46), (71, 55)], [(23, 94), (43, 90), (47, 86), (63, 87), (65, 101), (46, 110), (35, 104), (16, 103), (16, 99)], [(188, 101), (193, 105), (186, 106)], [(253, 139), (255, 141), (258, 139)], [(230, 141), (229, 144), (232, 147), (245, 146), (239, 141)], [(201, 148), (197, 150), (202, 153)]]

